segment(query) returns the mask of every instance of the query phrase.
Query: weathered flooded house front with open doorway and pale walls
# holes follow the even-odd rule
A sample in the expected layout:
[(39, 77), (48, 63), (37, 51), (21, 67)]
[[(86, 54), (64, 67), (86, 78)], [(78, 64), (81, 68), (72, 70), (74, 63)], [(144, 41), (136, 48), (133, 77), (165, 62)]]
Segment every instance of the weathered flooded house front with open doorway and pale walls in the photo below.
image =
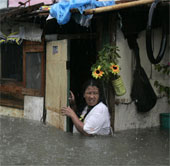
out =
[[(73, 18), (65, 25), (59, 25), (54, 18), (47, 20), (47, 11), (37, 12), (43, 5), (39, 1), (16, 10), (9, 8), (5, 14), (1, 12), (0, 115), (42, 120), (71, 131), (71, 121), (60, 114), (60, 108), (68, 104), (70, 89), (77, 98), (81, 95), (81, 85), (91, 77), (90, 68), (98, 51), (110, 43), (120, 50), (120, 74), (126, 87), (126, 94), (119, 97), (110, 85), (104, 85), (114, 131), (159, 126), (159, 115), (169, 112), (169, 105), (167, 97), (157, 92), (154, 81), (168, 85), (169, 78), (154, 70), (147, 57), (150, 3), (94, 14), (89, 27), (79, 25)], [(169, 20), (169, 3), (162, 6), (165, 10), (161, 8), (156, 17)], [(160, 48), (161, 25), (155, 21), (153, 26), (155, 56)], [(128, 40), (134, 36), (141, 65), (158, 97), (156, 105), (144, 113), (137, 111), (131, 98), (135, 55)], [(169, 61), (169, 32), (167, 40), (163, 64)]]

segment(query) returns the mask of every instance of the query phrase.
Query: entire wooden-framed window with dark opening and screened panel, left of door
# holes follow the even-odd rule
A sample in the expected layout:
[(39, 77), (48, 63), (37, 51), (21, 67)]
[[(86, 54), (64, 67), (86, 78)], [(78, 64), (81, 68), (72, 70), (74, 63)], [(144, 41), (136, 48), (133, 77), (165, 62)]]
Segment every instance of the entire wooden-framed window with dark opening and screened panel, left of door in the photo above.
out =
[(44, 96), (44, 44), (0, 45), (0, 105), (23, 108), (24, 95)]

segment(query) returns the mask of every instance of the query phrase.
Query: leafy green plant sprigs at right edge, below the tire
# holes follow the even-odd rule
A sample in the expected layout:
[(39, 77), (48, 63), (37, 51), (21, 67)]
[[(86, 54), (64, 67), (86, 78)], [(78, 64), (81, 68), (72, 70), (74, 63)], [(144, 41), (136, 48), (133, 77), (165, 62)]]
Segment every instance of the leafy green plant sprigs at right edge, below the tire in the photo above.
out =
[[(155, 70), (169, 76), (169, 74), (170, 74), (170, 63), (168, 63), (167, 65), (156, 64)], [(165, 94), (168, 97), (168, 103), (170, 104), (170, 87), (161, 84), (157, 80), (154, 82), (154, 86), (158, 89), (160, 94)]]

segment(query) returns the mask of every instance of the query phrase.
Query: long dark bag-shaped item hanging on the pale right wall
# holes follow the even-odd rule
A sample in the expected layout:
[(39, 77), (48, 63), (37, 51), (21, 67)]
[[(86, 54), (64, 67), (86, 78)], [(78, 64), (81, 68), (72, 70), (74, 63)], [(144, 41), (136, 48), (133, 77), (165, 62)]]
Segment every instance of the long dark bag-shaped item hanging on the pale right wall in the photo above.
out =
[(135, 53), (136, 68), (133, 75), (131, 98), (135, 102), (137, 111), (148, 112), (156, 104), (157, 96), (149, 82), (145, 70), (141, 66), (139, 47), (136, 38), (128, 38), (128, 44)]

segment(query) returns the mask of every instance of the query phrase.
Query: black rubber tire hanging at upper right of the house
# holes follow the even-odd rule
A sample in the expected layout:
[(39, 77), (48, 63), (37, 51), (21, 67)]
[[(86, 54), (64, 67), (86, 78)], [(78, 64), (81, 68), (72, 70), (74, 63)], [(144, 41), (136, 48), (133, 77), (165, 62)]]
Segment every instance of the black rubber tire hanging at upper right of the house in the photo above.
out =
[(147, 56), (152, 64), (159, 63), (165, 53), (166, 45), (167, 45), (167, 28), (166, 28), (166, 21), (163, 20), (162, 22), (162, 39), (161, 39), (161, 45), (159, 49), (159, 53), (157, 57), (155, 58), (153, 55), (153, 49), (152, 49), (152, 20), (154, 11), (156, 9), (157, 4), (160, 2), (160, 0), (155, 0), (155, 2), (152, 3), (150, 10), (149, 10), (149, 16), (148, 16), (148, 23), (146, 27), (146, 51)]

